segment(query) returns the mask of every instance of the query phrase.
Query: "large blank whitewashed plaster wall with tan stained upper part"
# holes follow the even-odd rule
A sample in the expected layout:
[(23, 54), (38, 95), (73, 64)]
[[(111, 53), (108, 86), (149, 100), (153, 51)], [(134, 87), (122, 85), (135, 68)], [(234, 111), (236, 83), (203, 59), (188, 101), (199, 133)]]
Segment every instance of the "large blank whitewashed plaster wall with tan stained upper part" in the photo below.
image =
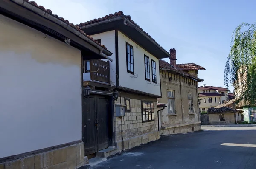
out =
[(81, 140), (81, 51), (0, 15), (0, 158)]

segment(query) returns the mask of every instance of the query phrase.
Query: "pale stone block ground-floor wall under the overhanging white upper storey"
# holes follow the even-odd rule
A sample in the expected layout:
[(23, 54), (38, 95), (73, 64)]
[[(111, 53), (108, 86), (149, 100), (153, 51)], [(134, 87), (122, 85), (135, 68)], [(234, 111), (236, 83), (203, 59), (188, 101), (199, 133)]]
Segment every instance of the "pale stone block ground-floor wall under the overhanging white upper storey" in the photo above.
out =
[[(119, 97), (115, 105), (124, 105), (125, 98)], [(157, 102), (154, 101), (154, 121), (142, 122), (141, 100), (130, 99), (130, 112), (124, 117), (116, 117), (115, 110), (115, 140), (119, 149), (130, 149), (140, 144), (155, 141), (160, 138), (157, 121)], [(123, 133), (121, 132), (123, 130)], [(122, 147), (122, 136), (124, 147)]]

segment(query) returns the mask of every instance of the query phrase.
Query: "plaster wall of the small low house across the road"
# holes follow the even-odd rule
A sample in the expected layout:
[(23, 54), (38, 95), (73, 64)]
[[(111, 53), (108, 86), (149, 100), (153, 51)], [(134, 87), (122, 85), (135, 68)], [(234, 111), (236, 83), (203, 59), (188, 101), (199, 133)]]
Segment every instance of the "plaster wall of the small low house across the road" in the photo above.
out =
[(225, 113), (225, 121), (220, 121), (219, 114), (209, 114), (210, 124), (235, 123), (235, 113)]

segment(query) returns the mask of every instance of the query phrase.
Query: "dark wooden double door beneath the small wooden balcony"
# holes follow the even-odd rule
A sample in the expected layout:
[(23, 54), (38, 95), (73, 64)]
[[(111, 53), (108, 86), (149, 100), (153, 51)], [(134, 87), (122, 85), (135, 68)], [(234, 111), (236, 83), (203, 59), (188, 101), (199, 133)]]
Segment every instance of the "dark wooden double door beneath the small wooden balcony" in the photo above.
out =
[(93, 154), (109, 146), (109, 106), (105, 96), (84, 98), (83, 140), (84, 155)]

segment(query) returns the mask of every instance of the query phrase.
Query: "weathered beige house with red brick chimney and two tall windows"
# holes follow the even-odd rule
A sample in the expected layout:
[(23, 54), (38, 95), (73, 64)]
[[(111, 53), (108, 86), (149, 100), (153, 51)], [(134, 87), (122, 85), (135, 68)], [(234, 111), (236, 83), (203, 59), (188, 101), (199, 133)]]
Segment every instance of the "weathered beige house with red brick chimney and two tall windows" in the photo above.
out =
[[(176, 134), (201, 129), (198, 112), (198, 82), (193, 75), (175, 67), (176, 50), (170, 49), (171, 63), (160, 60), (162, 98), (159, 103), (167, 107), (160, 111), (160, 134)], [(174, 62), (175, 61), (175, 62)], [(196, 74), (197, 75), (197, 74)], [(160, 105), (162, 106), (162, 105)], [(159, 107), (160, 107), (159, 106)]]

